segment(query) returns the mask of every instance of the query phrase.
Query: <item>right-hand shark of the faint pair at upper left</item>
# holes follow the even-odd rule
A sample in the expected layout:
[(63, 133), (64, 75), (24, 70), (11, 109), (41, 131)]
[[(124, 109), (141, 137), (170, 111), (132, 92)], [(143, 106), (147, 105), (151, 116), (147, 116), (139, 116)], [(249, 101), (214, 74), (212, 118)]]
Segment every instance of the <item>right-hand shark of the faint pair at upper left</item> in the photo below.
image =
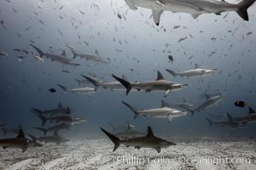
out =
[(73, 59), (80, 57), (81, 59), (86, 59), (86, 60), (92, 60), (97, 63), (102, 63), (102, 64), (107, 64), (110, 63), (110, 60), (106, 60), (103, 57), (100, 56), (98, 50), (95, 50), (95, 54), (77, 54), (74, 48), (68, 46), (68, 48), (71, 49), (73, 56)]

